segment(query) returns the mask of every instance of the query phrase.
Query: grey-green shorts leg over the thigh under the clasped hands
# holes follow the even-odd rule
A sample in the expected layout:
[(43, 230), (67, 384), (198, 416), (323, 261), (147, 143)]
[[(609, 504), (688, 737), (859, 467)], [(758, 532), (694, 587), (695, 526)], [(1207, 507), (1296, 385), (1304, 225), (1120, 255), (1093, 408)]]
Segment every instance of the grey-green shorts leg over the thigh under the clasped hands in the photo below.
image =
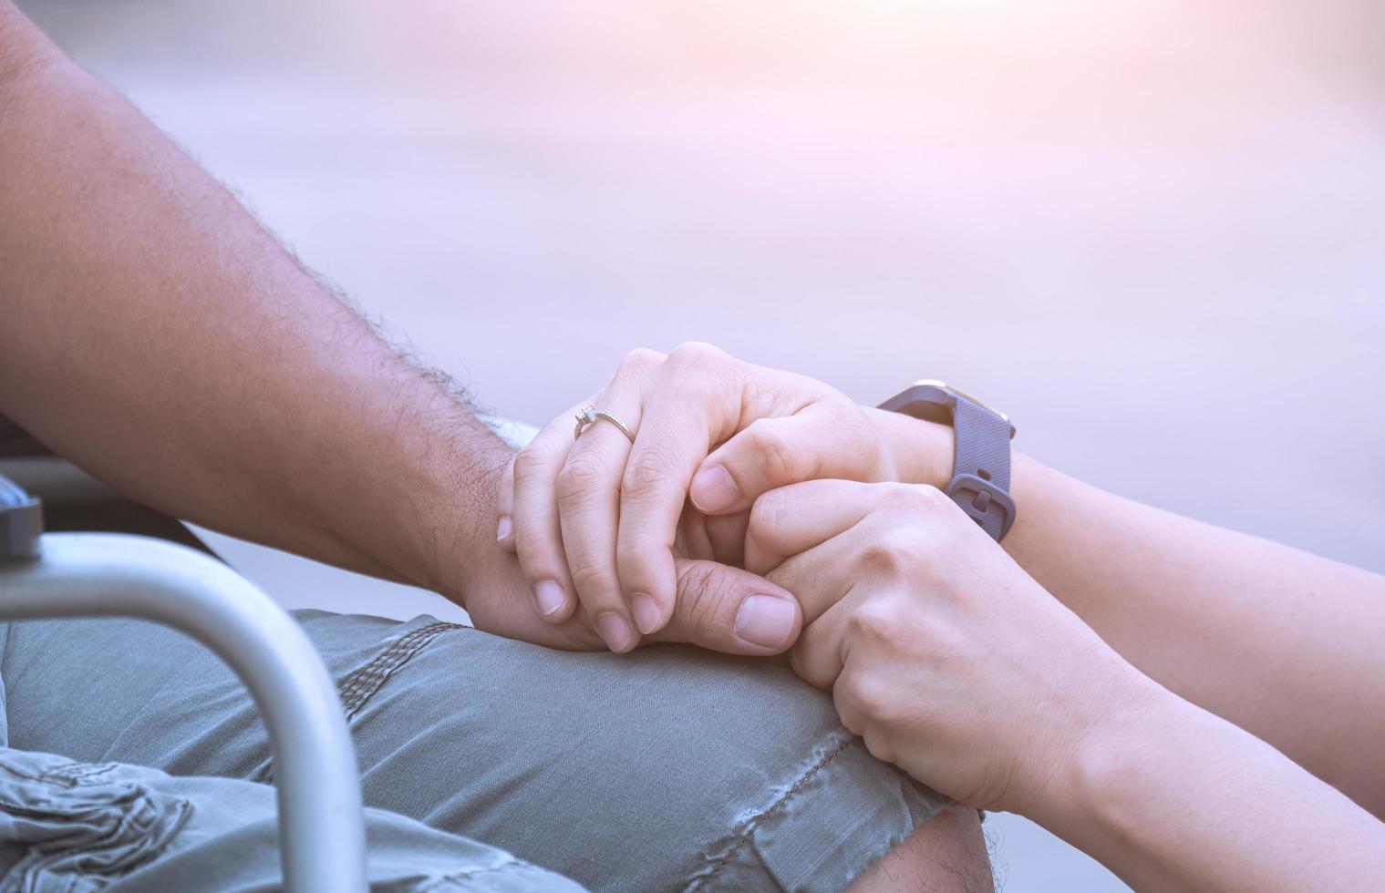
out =
[[(591, 889), (839, 890), (945, 806), (871, 757), (778, 662), (681, 647), (571, 653), (432, 617), (299, 620), (338, 681), (368, 806)], [(240, 683), (172, 630), (3, 624), (0, 680), (10, 748), (271, 778)], [(273, 850), (269, 788), (245, 786), (263, 791), (256, 833)], [(211, 813), (230, 795), (204, 796)], [(211, 845), (204, 856), (230, 858)]]

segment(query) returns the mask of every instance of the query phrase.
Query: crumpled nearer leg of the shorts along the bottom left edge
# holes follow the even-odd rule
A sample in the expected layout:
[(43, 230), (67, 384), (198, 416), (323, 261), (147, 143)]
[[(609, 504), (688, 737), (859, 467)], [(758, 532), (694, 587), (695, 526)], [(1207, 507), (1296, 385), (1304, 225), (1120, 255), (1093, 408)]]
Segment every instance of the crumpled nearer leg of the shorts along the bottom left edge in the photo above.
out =
[[(367, 811), (375, 890), (580, 887), (503, 850)], [(0, 890), (273, 890), (274, 791), (0, 748)]]

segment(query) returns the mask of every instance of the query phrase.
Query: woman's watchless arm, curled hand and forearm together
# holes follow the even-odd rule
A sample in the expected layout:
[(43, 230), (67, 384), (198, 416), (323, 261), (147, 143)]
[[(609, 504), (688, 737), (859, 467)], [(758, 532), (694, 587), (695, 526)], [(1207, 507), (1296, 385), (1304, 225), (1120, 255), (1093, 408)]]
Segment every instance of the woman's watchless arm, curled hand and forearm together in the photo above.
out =
[(1137, 889), (1368, 889), (1385, 872), (1385, 825), (1125, 662), (935, 487), (774, 490), (747, 561), (795, 587), (810, 623), (792, 665), (871, 753), (1033, 818)]

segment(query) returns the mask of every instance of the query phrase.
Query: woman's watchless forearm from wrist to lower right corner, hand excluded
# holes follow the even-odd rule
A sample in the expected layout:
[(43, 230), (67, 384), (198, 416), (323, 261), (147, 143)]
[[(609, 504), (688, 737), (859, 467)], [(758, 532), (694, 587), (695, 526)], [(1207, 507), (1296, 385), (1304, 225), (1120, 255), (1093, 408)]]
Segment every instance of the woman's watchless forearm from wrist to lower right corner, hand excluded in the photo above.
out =
[(1385, 825), (1274, 748), (1150, 687), (1026, 814), (1140, 890), (1364, 890)]

